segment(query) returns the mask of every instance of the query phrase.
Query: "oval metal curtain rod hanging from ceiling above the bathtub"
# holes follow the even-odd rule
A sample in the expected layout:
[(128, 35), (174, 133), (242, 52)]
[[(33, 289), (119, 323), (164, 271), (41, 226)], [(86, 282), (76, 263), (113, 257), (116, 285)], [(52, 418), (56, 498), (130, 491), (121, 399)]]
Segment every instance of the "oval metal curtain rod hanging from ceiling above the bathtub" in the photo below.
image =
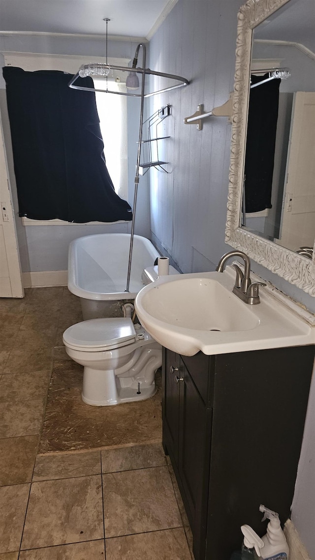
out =
[(159, 76), (162, 78), (170, 78), (171, 80), (177, 80), (180, 83), (176, 83), (174, 86), (165, 87), (162, 90), (153, 91), (149, 94), (144, 94), (143, 97), (151, 97), (152, 95), (162, 94), (164, 91), (175, 90), (178, 87), (188, 86), (189, 80), (183, 78), (182, 76), (175, 76), (175, 74), (165, 74), (164, 72), (155, 72), (150, 68), (131, 68), (129, 66), (114, 66), (114, 64), (106, 64), (106, 63), (93, 63), (93, 64), (83, 64), (79, 71), (73, 76), (72, 80), (68, 83), (68, 86), (73, 88), (74, 90), (82, 90), (82, 91), (100, 91), (104, 94), (116, 94), (116, 95), (127, 95), (129, 97), (142, 97), (142, 94), (131, 94), (129, 92), (118, 92), (118, 91), (111, 91), (109, 89), (106, 90), (98, 90), (94, 87), (83, 87), (74, 85), (74, 82), (77, 81), (79, 77), (91, 76), (93, 77), (106, 77), (106, 70), (120, 70), (123, 72), (135, 72), (138, 74), (142, 74), (144, 76)]

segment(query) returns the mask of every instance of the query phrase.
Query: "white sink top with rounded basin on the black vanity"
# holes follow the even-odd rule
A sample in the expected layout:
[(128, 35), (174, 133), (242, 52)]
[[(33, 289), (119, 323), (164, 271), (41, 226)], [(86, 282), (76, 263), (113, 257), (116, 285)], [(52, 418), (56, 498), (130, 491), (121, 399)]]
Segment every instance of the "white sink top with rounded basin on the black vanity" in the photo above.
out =
[(315, 329), (266, 288), (248, 305), (232, 293), (234, 269), (160, 277), (138, 293), (138, 318), (154, 339), (192, 356), (315, 343)]

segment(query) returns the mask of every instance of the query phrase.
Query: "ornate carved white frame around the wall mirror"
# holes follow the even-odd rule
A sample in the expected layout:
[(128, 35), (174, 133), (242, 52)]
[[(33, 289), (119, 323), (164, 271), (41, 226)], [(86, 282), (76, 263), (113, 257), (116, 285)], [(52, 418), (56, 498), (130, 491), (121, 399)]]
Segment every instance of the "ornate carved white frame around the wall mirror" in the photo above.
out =
[(289, 1), (247, 0), (238, 12), (225, 242), (241, 249), (263, 267), (315, 297), (315, 253), (312, 260), (307, 259), (239, 227), (250, 91), (252, 30)]

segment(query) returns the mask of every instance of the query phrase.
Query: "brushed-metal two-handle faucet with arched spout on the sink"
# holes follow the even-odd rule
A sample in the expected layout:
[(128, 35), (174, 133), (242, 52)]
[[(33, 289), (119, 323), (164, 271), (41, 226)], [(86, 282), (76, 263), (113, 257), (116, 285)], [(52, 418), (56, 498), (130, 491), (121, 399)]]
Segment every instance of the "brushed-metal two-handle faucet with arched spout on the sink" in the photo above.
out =
[(260, 304), (258, 289), (259, 286), (266, 286), (266, 284), (263, 282), (252, 283), (250, 278), (251, 261), (246, 253), (243, 253), (243, 251), (229, 251), (229, 253), (225, 253), (225, 255), (220, 258), (218, 266), (215, 270), (217, 270), (217, 272), (223, 272), (225, 263), (232, 256), (240, 256), (245, 264), (244, 273), (237, 264), (232, 265), (236, 270), (236, 281), (233, 287), (233, 293), (235, 293), (237, 297), (241, 298), (241, 300), (246, 304)]

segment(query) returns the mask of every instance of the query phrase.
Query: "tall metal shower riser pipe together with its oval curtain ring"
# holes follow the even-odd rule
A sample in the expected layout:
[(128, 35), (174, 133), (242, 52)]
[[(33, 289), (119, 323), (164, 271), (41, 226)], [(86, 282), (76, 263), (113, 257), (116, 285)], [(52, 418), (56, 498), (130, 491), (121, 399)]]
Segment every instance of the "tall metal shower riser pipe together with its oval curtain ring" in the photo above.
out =
[[(142, 68), (137, 68), (138, 63), (138, 54), (139, 49), (142, 48)], [(163, 72), (154, 72), (149, 68), (145, 68), (145, 58), (146, 58), (146, 48), (143, 43), (139, 43), (137, 49), (135, 50), (135, 55), (133, 59), (132, 67), (123, 67), (123, 66), (114, 66), (111, 64), (104, 64), (104, 63), (95, 63), (95, 64), (83, 64), (79, 71), (75, 76), (73, 76), (72, 80), (68, 83), (68, 86), (75, 89), (75, 90), (82, 90), (82, 91), (97, 91), (106, 94), (116, 94), (116, 95), (127, 95), (129, 97), (140, 97), (140, 119), (139, 119), (139, 140), (138, 140), (138, 152), (137, 152), (137, 165), (135, 170), (135, 178), (134, 178), (134, 202), (133, 202), (133, 219), (131, 221), (131, 232), (130, 232), (130, 249), (129, 249), (129, 260), (128, 260), (128, 273), (127, 273), (127, 282), (126, 282), (126, 289), (125, 292), (129, 292), (129, 284), (130, 284), (130, 273), (131, 273), (131, 259), (133, 254), (133, 238), (134, 238), (134, 224), (135, 224), (135, 211), (137, 206), (137, 195), (138, 195), (138, 184), (139, 184), (139, 167), (140, 167), (140, 155), (141, 155), (141, 144), (142, 144), (142, 129), (143, 129), (143, 107), (144, 107), (144, 98), (151, 97), (152, 95), (161, 94), (165, 91), (175, 90), (178, 87), (183, 87), (189, 85), (189, 81), (186, 78), (182, 78), (181, 76), (175, 76), (174, 74), (165, 74)], [(104, 76), (107, 77), (106, 72), (108, 69), (112, 70), (120, 70), (125, 72), (136, 72), (138, 74), (142, 74), (142, 83), (141, 83), (141, 93), (140, 94), (131, 94), (131, 93), (123, 93), (118, 91), (110, 91), (107, 88), (106, 83), (106, 90), (98, 90), (93, 87), (82, 87), (74, 85), (78, 77), (84, 76)], [(154, 91), (149, 94), (144, 94), (144, 86), (145, 86), (145, 76), (152, 75), (152, 76), (161, 76), (164, 78), (170, 78), (171, 80), (177, 80), (180, 83), (177, 83), (175, 86), (166, 87), (162, 90)], [(106, 80), (107, 82), (107, 80)]]

